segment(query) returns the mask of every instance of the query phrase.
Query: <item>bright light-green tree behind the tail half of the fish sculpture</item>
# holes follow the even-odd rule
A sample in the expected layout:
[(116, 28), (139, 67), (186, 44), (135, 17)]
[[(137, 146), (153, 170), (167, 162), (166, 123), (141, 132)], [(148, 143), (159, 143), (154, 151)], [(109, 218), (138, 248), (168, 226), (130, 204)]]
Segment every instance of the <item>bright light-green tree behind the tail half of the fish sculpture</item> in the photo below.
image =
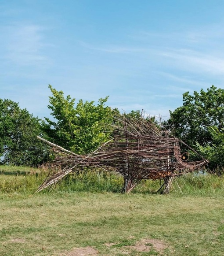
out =
[(45, 118), (43, 130), (48, 139), (77, 154), (94, 151), (111, 135), (110, 124), (113, 110), (105, 106), (108, 97), (94, 101), (79, 100), (75, 106), (75, 98), (64, 97), (63, 91), (57, 91), (49, 85), (51, 93), (48, 108), (54, 121)]

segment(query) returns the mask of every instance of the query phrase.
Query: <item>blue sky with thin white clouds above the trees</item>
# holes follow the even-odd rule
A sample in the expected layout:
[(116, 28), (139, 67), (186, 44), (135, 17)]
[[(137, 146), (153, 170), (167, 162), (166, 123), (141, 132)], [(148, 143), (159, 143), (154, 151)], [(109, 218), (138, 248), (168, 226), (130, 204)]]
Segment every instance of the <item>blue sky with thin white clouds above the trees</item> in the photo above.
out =
[(76, 100), (169, 116), (224, 88), (223, 0), (0, 0), (0, 98), (49, 117), (48, 84)]

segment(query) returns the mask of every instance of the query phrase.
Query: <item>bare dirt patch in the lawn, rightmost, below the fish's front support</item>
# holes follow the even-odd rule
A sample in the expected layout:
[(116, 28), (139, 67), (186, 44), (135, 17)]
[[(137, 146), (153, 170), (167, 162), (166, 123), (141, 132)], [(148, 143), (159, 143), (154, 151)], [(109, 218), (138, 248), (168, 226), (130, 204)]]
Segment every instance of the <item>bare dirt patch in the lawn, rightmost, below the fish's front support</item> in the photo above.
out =
[(157, 239), (142, 239), (136, 245), (125, 246), (125, 248), (134, 249), (138, 252), (150, 252), (153, 248), (157, 252), (162, 252), (166, 248), (166, 245), (163, 241)]

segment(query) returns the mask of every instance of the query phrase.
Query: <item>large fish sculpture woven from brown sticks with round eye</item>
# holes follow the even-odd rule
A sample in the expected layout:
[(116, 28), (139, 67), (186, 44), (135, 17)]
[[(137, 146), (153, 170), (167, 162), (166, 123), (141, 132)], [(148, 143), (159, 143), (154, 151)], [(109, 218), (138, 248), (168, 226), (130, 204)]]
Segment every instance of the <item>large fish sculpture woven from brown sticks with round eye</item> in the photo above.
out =
[(177, 137), (160, 130), (155, 122), (143, 117), (120, 116), (112, 125), (113, 137), (94, 152), (77, 155), (41, 137), (54, 152), (53, 168), (59, 170), (45, 179), (37, 192), (58, 182), (71, 172), (86, 167), (119, 174), (124, 179), (122, 192), (129, 193), (143, 179), (163, 180), (163, 192), (170, 192), (170, 184), (177, 175), (204, 167), (208, 160), (189, 162), (189, 153), (181, 153), (181, 145), (188, 147)]

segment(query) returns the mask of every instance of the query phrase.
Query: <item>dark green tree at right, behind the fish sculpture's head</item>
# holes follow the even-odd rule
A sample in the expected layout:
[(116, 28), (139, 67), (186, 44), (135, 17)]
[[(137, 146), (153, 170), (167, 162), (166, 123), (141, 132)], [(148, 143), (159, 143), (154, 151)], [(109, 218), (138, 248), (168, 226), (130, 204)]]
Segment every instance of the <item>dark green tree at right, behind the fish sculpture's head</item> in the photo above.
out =
[[(207, 91), (201, 89), (193, 95), (184, 93), (183, 106), (170, 111), (167, 124), (173, 134), (189, 146), (202, 154), (207, 152), (211, 168), (221, 165), (220, 160), (211, 156), (220, 145), (220, 139), (224, 143), (224, 89), (212, 85)], [(213, 154), (208, 154), (209, 148)]]

